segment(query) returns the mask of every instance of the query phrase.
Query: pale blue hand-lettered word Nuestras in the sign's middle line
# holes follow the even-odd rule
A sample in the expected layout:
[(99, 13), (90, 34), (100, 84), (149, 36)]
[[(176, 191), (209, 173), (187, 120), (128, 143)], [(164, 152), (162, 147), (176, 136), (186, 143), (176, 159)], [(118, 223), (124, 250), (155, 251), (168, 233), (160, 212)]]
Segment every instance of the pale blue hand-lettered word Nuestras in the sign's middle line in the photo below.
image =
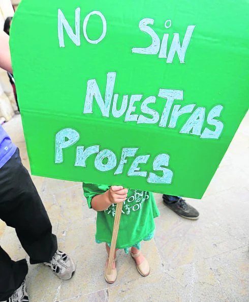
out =
[[(188, 104), (185, 106), (173, 106), (173, 102), (175, 100), (183, 100), (183, 90), (159, 89), (158, 97), (161, 98), (160, 100), (166, 100), (165, 106), (161, 112), (151, 108), (153, 104), (157, 102), (157, 97), (148, 96), (145, 97), (144, 100), (141, 102), (143, 98), (142, 94), (134, 94), (131, 95), (130, 98), (128, 95), (122, 96), (122, 103), (120, 109), (117, 109), (119, 95), (113, 95), (115, 80), (116, 73), (108, 72), (105, 100), (103, 100), (102, 98), (103, 94), (101, 94), (100, 92), (100, 88), (97, 84), (96, 79), (91, 79), (87, 81), (86, 97), (83, 110), (84, 114), (93, 113), (92, 107), (95, 98), (102, 115), (105, 117), (109, 117), (111, 112), (112, 116), (115, 118), (120, 118), (121, 116), (124, 116), (124, 122), (136, 122), (137, 124), (158, 124), (159, 127), (175, 128), (178, 118), (184, 114), (192, 113), (196, 106), (196, 104)], [(150, 105), (150, 107), (148, 105)], [(140, 106), (140, 111), (142, 112), (142, 114), (138, 115), (134, 113), (136, 110), (136, 106)], [(157, 108), (158, 107), (159, 106), (157, 106)], [(214, 126), (214, 130), (210, 130), (207, 127), (202, 129), (205, 120), (206, 108), (197, 107), (181, 128), (180, 133), (194, 134), (200, 136), (201, 138), (218, 139), (223, 131), (224, 125), (220, 120), (217, 120), (215, 117), (220, 117), (222, 109), (223, 106), (216, 105), (209, 111), (207, 115), (207, 124)], [(149, 115), (150, 117), (144, 114)]]

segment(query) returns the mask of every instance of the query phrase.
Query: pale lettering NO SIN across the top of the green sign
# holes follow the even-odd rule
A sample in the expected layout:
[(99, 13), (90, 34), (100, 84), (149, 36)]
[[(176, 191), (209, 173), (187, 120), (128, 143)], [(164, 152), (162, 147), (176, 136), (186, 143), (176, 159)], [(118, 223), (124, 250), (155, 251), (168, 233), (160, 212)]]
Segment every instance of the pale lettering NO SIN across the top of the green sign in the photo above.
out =
[[(89, 39), (87, 35), (87, 23), (89, 21), (90, 16), (92, 15), (97, 15), (101, 18), (102, 21), (102, 34), (101, 36), (96, 39), (96, 40), (91, 40)], [(179, 40), (179, 33), (174, 33), (174, 37), (171, 43), (171, 46), (169, 48), (169, 52), (167, 55), (167, 48), (168, 48), (168, 39), (169, 39), (169, 34), (166, 33), (163, 36), (162, 43), (160, 41), (159, 36), (155, 31), (149, 26), (154, 24), (154, 19), (151, 18), (144, 18), (139, 22), (139, 29), (141, 32), (148, 34), (151, 39), (151, 45), (148, 47), (134, 47), (132, 48), (133, 53), (138, 53), (138, 54), (158, 54), (159, 53), (159, 58), (166, 58), (166, 63), (172, 63), (173, 58), (175, 56), (175, 53), (177, 53), (178, 58), (180, 63), (185, 63), (184, 58), (185, 58), (185, 53), (186, 50), (188, 49), (195, 25), (189, 25), (186, 29), (182, 45), (180, 45), (180, 40)], [(165, 21), (165, 28), (171, 27), (171, 20), (166, 20)], [(73, 43), (76, 46), (81, 45), (81, 40), (80, 40), (80, 8), (77, 8), (75, 10), (75, 33), (70, 26), (67, 18), (65, 17), (64, 13), (58, 9), (58, 41), (59, 41), (59, 46), (60, 47), (65, 47), (65, 41), (64, 41), (64, 28), (66, 33), (68, 34), (69, 38), (73, 41)], [(107, 33), (107, 22), (106, 18), (100, 11), (92, 11), (89, 14), (86, 15), (86, 17), (83, 20), (83, 35), (84, 38), (88, 43), (91, 44), (98, 44), (100, 43), (106, 36)]]

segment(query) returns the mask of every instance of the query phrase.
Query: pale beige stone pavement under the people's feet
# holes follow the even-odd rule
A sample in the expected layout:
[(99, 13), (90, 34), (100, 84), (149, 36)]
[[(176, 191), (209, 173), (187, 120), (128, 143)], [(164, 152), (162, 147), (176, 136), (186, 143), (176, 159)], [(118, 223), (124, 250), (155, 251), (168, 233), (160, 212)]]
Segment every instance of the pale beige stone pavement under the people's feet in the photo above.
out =
[[(20, 116), (5, 125), (29, 169)], [(184, 150), (184, 149), (183, 149)], [(202, 200), (188, 199), (198, 221), (178, 217), (155, 197), (161, 217), (153, 240), (142, 245), (151, 274), (140, 277), (131, 256), (118, 252), (118, 277), (103, 276), (103, 245), (95, 244), (94, 210), (88, 209), (81, 184), (33, 176), (57, 234), (59, 248), (77, 264), (70, 281), (43, 266), (30, 265), (27, 287), (32, 302), (56, 301), (249, 301), (249, 114)], [(210, 155), (211, 156), (211, 155)], [(14, 260), (26, 257), (14, 229), (0, 221), (1, 246)]]

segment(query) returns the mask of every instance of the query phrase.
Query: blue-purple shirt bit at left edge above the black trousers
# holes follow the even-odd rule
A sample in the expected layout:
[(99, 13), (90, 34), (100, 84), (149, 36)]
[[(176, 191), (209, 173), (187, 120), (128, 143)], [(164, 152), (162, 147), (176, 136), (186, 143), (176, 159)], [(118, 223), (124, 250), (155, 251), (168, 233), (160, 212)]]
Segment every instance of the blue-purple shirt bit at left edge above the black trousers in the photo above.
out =
[(12, 143), (9, 135), (0, 125), (0, 169), (8, 162), (16, 152), (16, 146)]

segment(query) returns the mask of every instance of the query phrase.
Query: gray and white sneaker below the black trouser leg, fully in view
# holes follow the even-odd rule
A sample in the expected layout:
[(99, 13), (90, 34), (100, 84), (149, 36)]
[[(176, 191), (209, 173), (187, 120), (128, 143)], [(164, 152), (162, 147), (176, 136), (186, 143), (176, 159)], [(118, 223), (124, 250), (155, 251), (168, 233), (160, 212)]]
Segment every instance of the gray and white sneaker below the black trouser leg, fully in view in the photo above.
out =
[(53, 273), (60, 279), (69, 280), (75, 272), (74, 261), (65, 253), (56, 251), (49, 262), (44, 262), (49, 266)]

